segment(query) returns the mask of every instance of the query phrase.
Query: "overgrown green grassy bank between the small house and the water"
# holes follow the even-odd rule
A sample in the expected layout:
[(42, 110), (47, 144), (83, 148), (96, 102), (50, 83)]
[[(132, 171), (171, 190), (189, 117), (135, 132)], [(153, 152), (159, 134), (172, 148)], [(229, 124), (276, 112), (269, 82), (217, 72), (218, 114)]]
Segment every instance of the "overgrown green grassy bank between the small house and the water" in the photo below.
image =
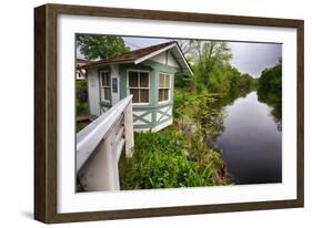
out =
[(212, 105), (214, 100), (199, 97), (193, 91), (175, 90), (174, 124), (158, 133), (135, 133), (133, 157), (120, 162), (121, 189), (229, 184), (223, 160), (208, 146), (207, 131), (198, 122), (213, 122), (219, 113), (215, 108), (200, 113), (200, 108), (207, 107), (200, 101)]

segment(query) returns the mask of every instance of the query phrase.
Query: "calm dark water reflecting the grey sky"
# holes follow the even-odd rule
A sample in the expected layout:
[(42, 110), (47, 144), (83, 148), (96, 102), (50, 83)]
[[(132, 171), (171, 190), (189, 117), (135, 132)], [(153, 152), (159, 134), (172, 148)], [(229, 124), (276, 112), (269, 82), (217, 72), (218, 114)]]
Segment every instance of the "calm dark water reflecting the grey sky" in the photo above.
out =
[(235, 184), (282, 180), (281, 127), (271, 111), (256, 92), (225, 106), (224, 131), (215, 144)]

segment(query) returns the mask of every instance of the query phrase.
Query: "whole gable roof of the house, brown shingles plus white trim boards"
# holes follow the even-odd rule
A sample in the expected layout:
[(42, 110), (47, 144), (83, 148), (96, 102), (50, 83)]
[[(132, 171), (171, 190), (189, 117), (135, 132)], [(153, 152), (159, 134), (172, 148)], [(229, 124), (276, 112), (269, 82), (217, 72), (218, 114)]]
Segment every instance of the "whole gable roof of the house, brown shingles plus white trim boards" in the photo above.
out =
[(170, 41), (170, 42), (165, 42), (165, 43), (161, 43), (161, 44), (157, 44), (157, 45), (151, 45), (151, 46), (143, 48), (143, 49), (137, 49), (134, 51), (127, 52), (123, 54), (118, 54), (118, 55), (114, 55), (114, 56), (111, 56), (111, 58), (108, 58), (104, 60), (93, 61), (93, 62), (90, 62), (89, 64), (85, 64), (83, 66), (81, 65), (79, 68), (88, 69), (88, 68), (93, 68), (93, 66), (107, 65), (107, 64), (111, 64), (111, 63), (127, 63), (127, 62), (133, 62), (134, 64), (139, 64), (169, 49), (172, 49), (173, 58), (179, 63), (181, 69), (183, 71), (187, 71), (187, 72), (190, 72), (191, 74), (193, 74), (184, 54), (182, 53), (180, 46), (178, 45), (178, 43), (175, 41)]

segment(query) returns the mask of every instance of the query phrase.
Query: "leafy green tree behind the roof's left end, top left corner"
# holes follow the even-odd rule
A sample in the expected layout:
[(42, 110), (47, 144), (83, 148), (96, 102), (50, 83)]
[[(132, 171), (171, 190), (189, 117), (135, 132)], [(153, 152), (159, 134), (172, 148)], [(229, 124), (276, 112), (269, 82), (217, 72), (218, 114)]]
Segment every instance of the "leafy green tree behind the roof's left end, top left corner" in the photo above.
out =
[(123, 39), (115, 35), (77, 35), (80, 52), (88, 59), (107, 59), (115, 54), (129, 52)]

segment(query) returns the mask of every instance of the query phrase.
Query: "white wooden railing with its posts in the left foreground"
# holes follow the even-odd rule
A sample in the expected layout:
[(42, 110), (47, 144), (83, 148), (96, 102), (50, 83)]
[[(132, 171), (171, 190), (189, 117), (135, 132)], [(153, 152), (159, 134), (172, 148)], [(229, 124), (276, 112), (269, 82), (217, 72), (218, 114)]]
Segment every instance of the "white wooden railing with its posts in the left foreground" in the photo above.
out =
[(118, 162), (133, 153), (132, 95), (77, 133), (76, 172), (84, 190), (119, 190)]

